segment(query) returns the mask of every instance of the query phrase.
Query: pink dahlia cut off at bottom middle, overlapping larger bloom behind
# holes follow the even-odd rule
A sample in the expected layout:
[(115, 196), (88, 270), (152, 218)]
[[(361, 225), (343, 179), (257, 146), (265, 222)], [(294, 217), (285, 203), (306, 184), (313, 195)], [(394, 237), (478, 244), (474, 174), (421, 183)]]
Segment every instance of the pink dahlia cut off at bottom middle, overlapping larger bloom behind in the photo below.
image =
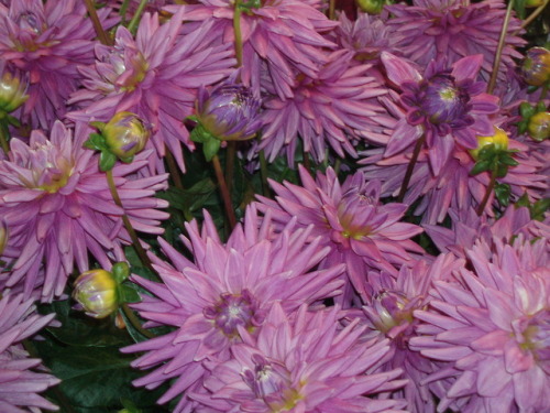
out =
[(405, 383), (402, 370), (373, 373), (387, 355), (387, 340), (362, 343), (358, 322), (339, 327), (339, 308), (289, 317), (275, 303), (257, 337), (243, 330), (231, 359), (206, 362), (210, 394), (191, 393), (198, 412), (402, 412), (403, 400), (370, 396)]

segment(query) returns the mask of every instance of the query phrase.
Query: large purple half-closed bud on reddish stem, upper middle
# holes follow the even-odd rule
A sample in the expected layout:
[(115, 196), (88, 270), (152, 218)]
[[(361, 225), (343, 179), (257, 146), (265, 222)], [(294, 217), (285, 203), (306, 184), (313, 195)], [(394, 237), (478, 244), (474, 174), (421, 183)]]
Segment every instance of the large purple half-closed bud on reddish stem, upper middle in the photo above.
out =
[(246, 140), (253, 138), (262, 124), (260, 105), (249, 88), (223, 84), (211, 94), (200, 90), (196, 119), (205, 132), (220, 141)]

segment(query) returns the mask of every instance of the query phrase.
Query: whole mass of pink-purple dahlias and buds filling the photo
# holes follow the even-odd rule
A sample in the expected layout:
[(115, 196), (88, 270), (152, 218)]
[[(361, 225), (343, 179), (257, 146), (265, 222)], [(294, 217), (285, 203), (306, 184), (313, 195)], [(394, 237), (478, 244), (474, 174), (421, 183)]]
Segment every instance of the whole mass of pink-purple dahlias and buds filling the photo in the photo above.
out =
[[(95, 317), (148, 292), (169, 333), (121, 350), (175, 412), (550, 411), (550, 52), (519, 68), (504, 2), (121, 3), (0, 0), (2, 412), (56, 409), (22, 343), (75, 273)], [(319, 171), (145, 256), (184, 150), (228, 141)], [(132, 243), (158, 281), (125, 280)]]

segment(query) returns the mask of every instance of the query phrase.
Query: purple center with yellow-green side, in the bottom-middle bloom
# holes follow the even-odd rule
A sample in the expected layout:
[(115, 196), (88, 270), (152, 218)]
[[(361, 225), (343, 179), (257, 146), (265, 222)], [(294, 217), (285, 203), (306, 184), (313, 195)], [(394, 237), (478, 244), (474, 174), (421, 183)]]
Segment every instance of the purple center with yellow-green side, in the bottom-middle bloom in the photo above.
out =
[(292, 411), (302, 398), (292, 387), (290, 373), (285, 366), (270, 362), (261, 355), (252, 356), (254, 371), (245, 369), (241, 374), (256, 398), (263, 399), (271, 412)]

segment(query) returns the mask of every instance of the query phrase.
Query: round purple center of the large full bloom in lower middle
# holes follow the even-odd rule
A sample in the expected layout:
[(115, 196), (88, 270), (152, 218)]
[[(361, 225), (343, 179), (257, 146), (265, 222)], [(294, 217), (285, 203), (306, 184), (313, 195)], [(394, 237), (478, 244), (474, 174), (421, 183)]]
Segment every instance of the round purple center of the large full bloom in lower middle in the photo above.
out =
[(243, 290), (241, 294), (223, 293), (213, 306), (204, 311), (208, 319), (212, 319), (217, 328), (229, 338), (239, 336), (238, 326), (249, 330), (258, 325), (257, 305), (249, 290)]

